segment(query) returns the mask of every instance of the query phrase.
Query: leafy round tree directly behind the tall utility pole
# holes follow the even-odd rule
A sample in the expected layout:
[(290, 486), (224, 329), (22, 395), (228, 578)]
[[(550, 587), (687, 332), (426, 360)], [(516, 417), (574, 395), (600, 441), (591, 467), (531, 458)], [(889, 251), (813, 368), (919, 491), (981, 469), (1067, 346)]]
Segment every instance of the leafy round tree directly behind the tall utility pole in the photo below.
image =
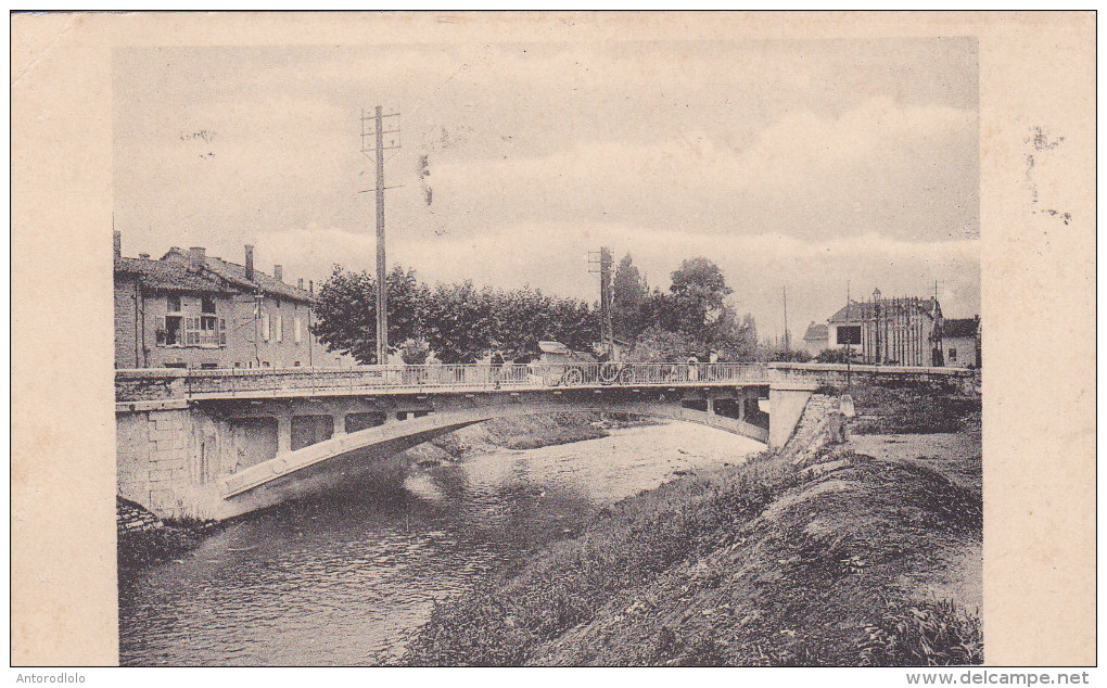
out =
[[(395, 265), (387, 275), (389, 342), (418, 338), (427, 288), (414, 270)], [(317, 322), (311, 332), (330, 351), (350, 354), (359, 363), (376, 363), (376, 280), (364, 270), (346, 272), (334, 265), (319, 289)]]

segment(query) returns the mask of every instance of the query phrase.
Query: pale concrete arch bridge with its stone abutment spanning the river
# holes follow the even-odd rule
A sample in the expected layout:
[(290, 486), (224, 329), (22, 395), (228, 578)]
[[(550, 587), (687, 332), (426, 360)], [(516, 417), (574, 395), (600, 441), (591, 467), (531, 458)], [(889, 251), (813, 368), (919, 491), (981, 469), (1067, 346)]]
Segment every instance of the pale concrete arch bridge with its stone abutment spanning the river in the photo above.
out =
[(669, 418), (779, 447), (813, 390), (841, 384), (844, 372), (734, 363), (116, 371), (117, 487), (163, 517), (225, 519), (386, 466), (458, 428), (558, 411)]

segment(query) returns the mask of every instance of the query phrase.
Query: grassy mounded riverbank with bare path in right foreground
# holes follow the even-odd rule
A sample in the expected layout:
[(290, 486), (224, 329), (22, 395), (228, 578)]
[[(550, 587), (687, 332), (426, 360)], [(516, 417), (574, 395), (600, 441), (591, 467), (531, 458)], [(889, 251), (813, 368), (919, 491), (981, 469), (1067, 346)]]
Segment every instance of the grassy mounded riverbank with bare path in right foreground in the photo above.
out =
[(601, 511), (580, 536), (438, 604), (403, 663), (981, 663), (979, 400), (937, 388), (857, 400), (857, 425), (880, 435)]

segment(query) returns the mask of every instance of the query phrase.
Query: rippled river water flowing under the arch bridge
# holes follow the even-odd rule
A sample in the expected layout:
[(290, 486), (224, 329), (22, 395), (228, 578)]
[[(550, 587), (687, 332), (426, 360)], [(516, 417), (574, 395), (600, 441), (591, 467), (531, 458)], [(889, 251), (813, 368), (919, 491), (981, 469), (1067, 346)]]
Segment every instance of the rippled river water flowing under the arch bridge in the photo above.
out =
[(124, 665), (368, 665), (403, 655), (435, 601), (579, 533), (597, 510), (762, 445), (671, 424), (457, 463), (229, 525), (120, 591)]

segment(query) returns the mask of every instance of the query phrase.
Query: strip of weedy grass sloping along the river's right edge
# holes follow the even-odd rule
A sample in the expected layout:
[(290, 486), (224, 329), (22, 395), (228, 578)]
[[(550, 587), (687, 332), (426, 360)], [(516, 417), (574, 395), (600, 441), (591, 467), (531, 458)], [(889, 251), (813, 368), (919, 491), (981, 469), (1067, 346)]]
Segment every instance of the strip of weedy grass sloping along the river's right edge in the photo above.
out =
[(782, 478), (779, 467), (762, 466), (710, 481), (685, 479), (625, 500), (516, 578), (485, 582), (437, 607), (405, 663), (523, 664), (535, 646), (591, 621), (619, 593), (650, 583), (710, 548), (721, 529), (758, 513)]

